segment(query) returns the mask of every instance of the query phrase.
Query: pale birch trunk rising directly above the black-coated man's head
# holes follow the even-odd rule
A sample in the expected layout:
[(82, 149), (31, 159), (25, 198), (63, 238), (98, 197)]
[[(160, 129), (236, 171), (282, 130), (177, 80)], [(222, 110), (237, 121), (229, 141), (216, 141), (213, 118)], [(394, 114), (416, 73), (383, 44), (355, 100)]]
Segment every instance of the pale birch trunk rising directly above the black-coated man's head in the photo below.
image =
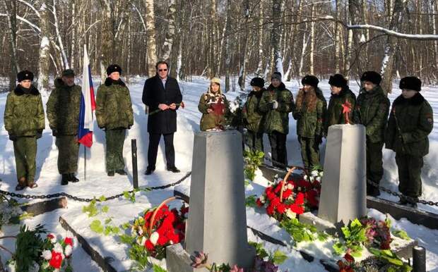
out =
[(155, 64), (157, 63), (157, 47), (155, 42), (155, 10), (153, 0), (146, 2), (146, 35), (148, 37), (148, 76), (156, 74)]

